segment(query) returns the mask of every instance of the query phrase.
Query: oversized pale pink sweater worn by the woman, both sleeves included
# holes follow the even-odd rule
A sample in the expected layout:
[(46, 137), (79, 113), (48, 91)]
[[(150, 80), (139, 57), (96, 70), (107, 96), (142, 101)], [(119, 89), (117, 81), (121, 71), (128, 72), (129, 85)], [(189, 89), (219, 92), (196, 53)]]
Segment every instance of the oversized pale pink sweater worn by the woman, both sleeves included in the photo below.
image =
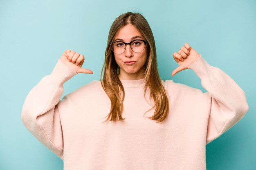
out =
[(64, 170), (205, 170), (206, 145), (243, 118), (249, 106), (235, 81), (202, 57), (189, 69), (207, 92), (161, 80), (170, 105), (164, 123), (146, 118), (153, 109), (143, 117), (151, 108), (144, 98), (144, 79), (121, 80), (126, 119), (102, 123), (111, 103), (100, 81), (60, 100), (63, 84), (77, 73), (58, 60), (27, 95), (21, 119), (63, 159)]

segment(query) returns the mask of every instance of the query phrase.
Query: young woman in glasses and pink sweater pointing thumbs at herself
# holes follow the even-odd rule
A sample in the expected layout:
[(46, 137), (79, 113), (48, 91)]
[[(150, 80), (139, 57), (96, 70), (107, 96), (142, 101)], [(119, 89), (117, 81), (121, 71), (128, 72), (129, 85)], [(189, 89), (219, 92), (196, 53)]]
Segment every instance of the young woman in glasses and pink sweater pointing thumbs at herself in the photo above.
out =
[(66, 50), (27, 95), (22, 122), (65, 170), (206, 169), (206, 144), (243, 118), (245, 92), (187, 43), (173, 58), (172, 76), (192, 69), (206, 93), (161, 80), (148, 22), (124, 13), (110, 28), (101, 81), (60, 100), (66, 81), (93, 74), (82, 54)]

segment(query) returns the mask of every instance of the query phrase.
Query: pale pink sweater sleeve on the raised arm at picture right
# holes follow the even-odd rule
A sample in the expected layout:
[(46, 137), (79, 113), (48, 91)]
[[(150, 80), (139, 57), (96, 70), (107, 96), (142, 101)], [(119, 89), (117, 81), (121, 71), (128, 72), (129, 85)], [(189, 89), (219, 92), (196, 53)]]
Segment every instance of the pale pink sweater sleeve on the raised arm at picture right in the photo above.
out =
[(189, 68), (201, 79), (209, 108), (206, 144), (234, 126), (249, 110), (245, 92), (219, 68), (209, 65), (200, 55)]

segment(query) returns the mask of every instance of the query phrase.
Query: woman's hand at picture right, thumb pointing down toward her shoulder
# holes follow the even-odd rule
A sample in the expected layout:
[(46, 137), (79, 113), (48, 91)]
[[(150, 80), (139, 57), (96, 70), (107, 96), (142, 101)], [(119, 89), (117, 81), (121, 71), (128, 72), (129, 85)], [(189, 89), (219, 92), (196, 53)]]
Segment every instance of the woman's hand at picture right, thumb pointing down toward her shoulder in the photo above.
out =
[(196, 59), (200, 57), (200, 54), (196, 52), (188, 43), (184, 44), (184, 47), (180, 48), (179, 52), (173, 53), (174, 60), (180, 65), (178, 68), (173, 70), (172, 76), (177, 72), (185, 70), (191, 65)]

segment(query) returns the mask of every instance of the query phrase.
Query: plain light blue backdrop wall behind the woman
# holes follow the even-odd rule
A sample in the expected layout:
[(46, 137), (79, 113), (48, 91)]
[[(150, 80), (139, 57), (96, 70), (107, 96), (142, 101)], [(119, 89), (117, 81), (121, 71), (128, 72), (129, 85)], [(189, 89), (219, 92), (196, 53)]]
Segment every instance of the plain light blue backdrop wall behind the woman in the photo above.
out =
[(163, 80), (206, 92), (193, 70), (171, 76), (178, 66), (173, 53), (187, 42), (245, 91), (249, 111), (206, 146), (207, 170), (256, 169), (255, 0), (0, 0), (1, 170), (63, 169), (63, 161), (23, 126), (24, 100), (67, 49), (83, 54), (83, 68), (94, 74), (74, 76), (63, 96), (99, 80), (110, 26), (128, 11), (150, 24)]

